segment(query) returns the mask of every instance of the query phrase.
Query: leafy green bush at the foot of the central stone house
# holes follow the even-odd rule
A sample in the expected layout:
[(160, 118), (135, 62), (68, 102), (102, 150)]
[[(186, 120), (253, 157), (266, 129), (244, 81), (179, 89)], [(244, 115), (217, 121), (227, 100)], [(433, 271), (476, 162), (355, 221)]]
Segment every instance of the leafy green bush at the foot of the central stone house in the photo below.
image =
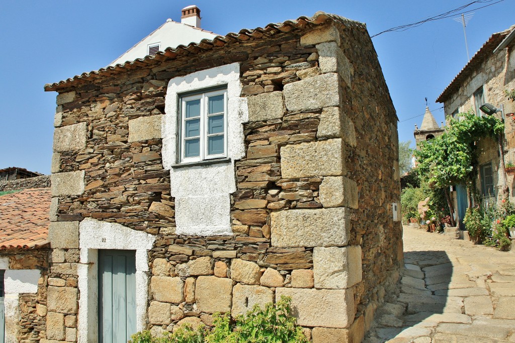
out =
[(254, 305), (245, 316), (234, 321), (226, 313), (214, 315), (214, 328), (196, 330), (181, 327), (176, 332), (152, 337), (149, 331), (132, 335), (131, 343), (307, 343), (302, 328), (290, 316), (291, 298), (281, 296), (276, 303), (267, 303), (264, 309)]

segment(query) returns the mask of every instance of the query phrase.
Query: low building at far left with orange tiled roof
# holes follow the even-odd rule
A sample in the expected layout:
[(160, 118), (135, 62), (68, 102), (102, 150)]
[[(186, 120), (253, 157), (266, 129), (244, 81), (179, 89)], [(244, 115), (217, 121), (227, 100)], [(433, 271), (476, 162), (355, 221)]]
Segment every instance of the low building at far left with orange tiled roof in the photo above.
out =
[(49, 188), (0, 196), (0, 289), (5, 291), (0, 313), (5, 314), (6, 343), (45, 338), (51, 198)]

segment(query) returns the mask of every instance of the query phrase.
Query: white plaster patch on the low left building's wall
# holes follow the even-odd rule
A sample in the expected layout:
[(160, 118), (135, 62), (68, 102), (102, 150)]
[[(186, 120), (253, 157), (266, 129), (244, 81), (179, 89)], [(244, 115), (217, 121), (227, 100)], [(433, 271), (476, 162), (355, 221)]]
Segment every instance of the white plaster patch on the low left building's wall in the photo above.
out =
[(4, 274), (5, 342), (16, 343), (20, 321), (20, 294), (38, 293), (39, 269), (9, 269), (9, 257), (0, 257)]

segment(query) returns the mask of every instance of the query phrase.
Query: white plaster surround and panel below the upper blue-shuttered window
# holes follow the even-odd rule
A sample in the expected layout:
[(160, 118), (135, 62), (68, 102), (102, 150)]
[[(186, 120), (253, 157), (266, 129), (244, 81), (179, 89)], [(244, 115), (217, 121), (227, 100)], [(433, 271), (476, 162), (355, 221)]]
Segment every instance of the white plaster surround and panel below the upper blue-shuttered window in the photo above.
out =
[[(231, 163), (172, 169), (178, 162), (177, 119), (180, 94), (227, 85), (227, 157)], [(243, 123), (248, 121), (247, 98), (242, 98), (239, 63), (197, 71), (171, 79), (163, 120), (163, 166), (170, 170), (171, 195), (176, 198), (176, 233), (230, 236), (230, 193), (236, 191), (234, 160), (245, 156)]]

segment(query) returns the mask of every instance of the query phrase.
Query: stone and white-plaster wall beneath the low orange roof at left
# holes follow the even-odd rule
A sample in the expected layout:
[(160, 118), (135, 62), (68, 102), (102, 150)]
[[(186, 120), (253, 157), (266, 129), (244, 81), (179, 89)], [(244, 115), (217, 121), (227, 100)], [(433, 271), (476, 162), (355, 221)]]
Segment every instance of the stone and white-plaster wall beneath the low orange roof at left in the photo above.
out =
[(6, 342), (45, 338), (48, 256), (45, 248), (0, 250)]

